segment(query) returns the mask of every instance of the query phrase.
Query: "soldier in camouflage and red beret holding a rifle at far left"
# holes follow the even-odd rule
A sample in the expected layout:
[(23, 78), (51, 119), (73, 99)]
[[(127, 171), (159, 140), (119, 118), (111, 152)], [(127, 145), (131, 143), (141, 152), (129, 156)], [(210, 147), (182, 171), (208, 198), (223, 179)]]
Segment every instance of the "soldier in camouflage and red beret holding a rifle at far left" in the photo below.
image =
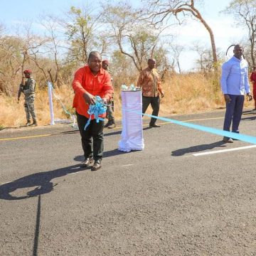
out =
[[(31, 70), (25, 70), (24, 72), (25, 78), (27, 78), (24, 85), (20, 85), (20, 90), (18, 95), (23, 92), (25, 95), (25, 112), (26, 112), (26, 119), (27, 123), (26, 126), (37, 126), (36, 122), (36, 113), (35, 113), (35, 107), (34, 107), (34, 101), (35, 101), (35, 89), (36, 89), (36, 81), (32, 78), (32, 71)], [(19, 100), (19, 97), (18, 97)], [(31, 117), (33, 119), (33, 123), (31, 124)]]

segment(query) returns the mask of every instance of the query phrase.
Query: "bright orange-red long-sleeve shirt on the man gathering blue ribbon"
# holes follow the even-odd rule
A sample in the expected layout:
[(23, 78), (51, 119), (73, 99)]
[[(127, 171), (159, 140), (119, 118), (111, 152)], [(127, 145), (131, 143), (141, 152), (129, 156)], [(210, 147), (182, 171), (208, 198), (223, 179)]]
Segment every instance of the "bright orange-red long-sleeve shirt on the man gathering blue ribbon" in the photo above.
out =
[[(112, 93), (114, 92), (110, 74), (107, 73), (103, 68), (97, 75), (93, 75), (88, 65), (79, 68), (74, 75), (73, 89), (75, 90), (75, 97), (73, 100), (73, 107), (75, 107), (78, 114), (82, 114), (85, 117), (90, 117), (87, 113), (89, 105), (86, 104), (85, 99), (82, 95), (85, 92), (89, 92), (91, 95), (105, 97), (110, 100)], [(106, 114), (100, 115), (100, 117), (105, 117)], [(94, 119), (92, 114), (92, 119)]]

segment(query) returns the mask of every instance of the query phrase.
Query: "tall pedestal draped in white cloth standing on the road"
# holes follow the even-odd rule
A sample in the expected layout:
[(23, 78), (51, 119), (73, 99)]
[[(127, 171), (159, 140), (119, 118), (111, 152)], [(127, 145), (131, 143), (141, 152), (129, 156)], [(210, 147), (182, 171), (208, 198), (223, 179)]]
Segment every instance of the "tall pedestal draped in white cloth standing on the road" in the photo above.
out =
[[(144, 139), (142, 129), (142, 91), (121, 92), (122, 96), (122, 139), (118, 146), (120, 151), (143, 150)], [(131, 110), (132, 112), (125, 111)]]

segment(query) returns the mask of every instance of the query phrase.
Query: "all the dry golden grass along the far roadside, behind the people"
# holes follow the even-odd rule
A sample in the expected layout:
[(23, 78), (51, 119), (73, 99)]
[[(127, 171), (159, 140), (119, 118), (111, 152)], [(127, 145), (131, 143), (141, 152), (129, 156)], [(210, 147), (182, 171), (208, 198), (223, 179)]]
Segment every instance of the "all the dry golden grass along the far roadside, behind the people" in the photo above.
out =
[[(216, 110), (225, 107), (223, 96), (220, 90), (213, 86), (213, 78), (206, 78), (201, 74), (172, 75), (166, 79), (162, 85), (164, 89), (164, 98), (161, 100), (161, 116), (170, 114), (196, 113), (202, 111)], [(72, 109), (73, 89), (71, 86), (64, 86), (55, 90), (60, 100), (69, 112)], [(0, 95), (1, 112), (0, 127), (19, 127), (26, 123), (26, 114), (24, 112), (23, 100), (17, 104), (16, 97), (6, 97)], [(114, 93), (115, 117), (122, 117), (119, 88)], [(253, 102), (245, 101), (245, 107), (253, 107)], [(38, 124), (45, 125), (50, 123), (50, 110), (48, 104), (47, 90), (40, 90), (36, 94), (36, 114)], [(67, 114), (56, 99), (53, 100), (55, 119), (67, 119)], [(147, 110), (151, 113), (151, 107)]]

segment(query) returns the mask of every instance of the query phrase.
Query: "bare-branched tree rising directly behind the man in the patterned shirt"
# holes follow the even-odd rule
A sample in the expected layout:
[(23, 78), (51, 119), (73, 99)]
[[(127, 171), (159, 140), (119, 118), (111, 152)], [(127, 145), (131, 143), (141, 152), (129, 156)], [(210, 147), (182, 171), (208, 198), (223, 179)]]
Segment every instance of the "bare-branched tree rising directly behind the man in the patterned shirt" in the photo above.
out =
[(128, 4), (107, 4), (103, 8), (103, 18), (111, 26), (110, 36), (114, 43), (141, 71), (147, 59), (154, 56), (161, 31), (156, 32), (145, 21), (139, 21), (136, 12)]

